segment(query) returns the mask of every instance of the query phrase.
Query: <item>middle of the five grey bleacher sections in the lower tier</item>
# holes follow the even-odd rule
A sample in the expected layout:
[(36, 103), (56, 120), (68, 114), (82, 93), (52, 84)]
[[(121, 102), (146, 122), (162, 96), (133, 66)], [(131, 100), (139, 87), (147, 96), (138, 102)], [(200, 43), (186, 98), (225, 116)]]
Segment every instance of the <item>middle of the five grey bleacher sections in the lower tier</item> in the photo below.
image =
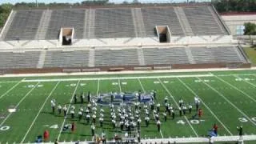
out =
[(138, 66), (137, 49), (95, 50), (95, 66)]

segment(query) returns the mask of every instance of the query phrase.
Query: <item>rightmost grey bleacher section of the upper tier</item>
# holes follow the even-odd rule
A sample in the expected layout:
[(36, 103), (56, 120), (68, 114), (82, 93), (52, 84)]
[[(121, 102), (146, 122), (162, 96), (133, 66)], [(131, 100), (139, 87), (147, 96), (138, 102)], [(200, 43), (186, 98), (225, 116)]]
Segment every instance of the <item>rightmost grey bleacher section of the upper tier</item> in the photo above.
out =
[(183, 7), (194, 35), (226, 34), (214, 20), (209, 8), (208, 6)]

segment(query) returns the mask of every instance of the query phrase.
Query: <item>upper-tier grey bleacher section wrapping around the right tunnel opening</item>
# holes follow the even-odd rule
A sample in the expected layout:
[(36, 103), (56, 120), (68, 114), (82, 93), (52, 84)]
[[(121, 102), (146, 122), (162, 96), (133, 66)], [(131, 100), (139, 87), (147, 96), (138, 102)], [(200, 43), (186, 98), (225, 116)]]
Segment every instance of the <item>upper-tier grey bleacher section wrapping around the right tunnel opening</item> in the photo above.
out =
[(154, 26), (169, 26), (172, 35), (184, 35), (182, 26), (173, 7), (142, 8), (142, 16), (147, 36), (155, 36)]

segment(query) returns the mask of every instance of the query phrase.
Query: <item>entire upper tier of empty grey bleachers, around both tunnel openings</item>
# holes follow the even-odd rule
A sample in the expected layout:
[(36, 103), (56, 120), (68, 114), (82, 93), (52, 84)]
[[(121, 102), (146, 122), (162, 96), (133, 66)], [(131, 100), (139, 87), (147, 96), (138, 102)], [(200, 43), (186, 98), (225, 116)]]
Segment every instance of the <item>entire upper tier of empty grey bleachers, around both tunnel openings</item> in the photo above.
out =
[[(134, 8), (96, 8), (96, 9), (64, 9), (50, 10), (44, 18), (46, 10), (14, 10), (14, 19), (6, 30), (4, 40), (33, 40), (38, 30), (46, 31), (42, 39), (58, 39), (61, 27), (74, 27), (74, 38), (134, 38), (136, 31), (141, 31), (138, 37), (154, 37), (155, 26), (169, 26), (174, 36), (183, 36), (182, 26), (172, 7), (142, 7), (139, 21), (132, 13)], [(227, 34), (222, 23), (218, 22), (218, 15), (210, 6), (179, 7), (184, 10), (186, 18), (194, 35)], [(89, 14), (89, 15), (87, 15)], [(136, 13), (137, 14), (137, 13)], [(182, 17), (182, 18), (183, 18)], [(47, 23), (41, 22), (47, 20)], [(40, 25), (44, 23), (44, 25)], [(136, 24), (143, 26), (136, 26)], [(46, 27), (43, 27), (46, 26)], [(140, 28), (136, 30), (134, 27)], [(143, 30), (141, 30), (143, 28)], [(145, 28), (145, 30), (144, 30)], [(88, 34), (87, 34), (88, 33)], [(91, 34), (92, 33), (92, 34)], [(146, 35), (145, 35), (146, 34)]]

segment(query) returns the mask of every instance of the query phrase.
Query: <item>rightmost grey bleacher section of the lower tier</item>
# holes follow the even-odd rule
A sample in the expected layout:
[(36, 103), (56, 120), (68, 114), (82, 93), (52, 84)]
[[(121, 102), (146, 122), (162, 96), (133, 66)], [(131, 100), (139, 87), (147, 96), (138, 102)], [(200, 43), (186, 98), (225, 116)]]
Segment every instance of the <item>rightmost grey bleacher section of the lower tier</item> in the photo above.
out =
[(196, 63), (246, 62), (236, 46), (193, 47), (190, 50)]

